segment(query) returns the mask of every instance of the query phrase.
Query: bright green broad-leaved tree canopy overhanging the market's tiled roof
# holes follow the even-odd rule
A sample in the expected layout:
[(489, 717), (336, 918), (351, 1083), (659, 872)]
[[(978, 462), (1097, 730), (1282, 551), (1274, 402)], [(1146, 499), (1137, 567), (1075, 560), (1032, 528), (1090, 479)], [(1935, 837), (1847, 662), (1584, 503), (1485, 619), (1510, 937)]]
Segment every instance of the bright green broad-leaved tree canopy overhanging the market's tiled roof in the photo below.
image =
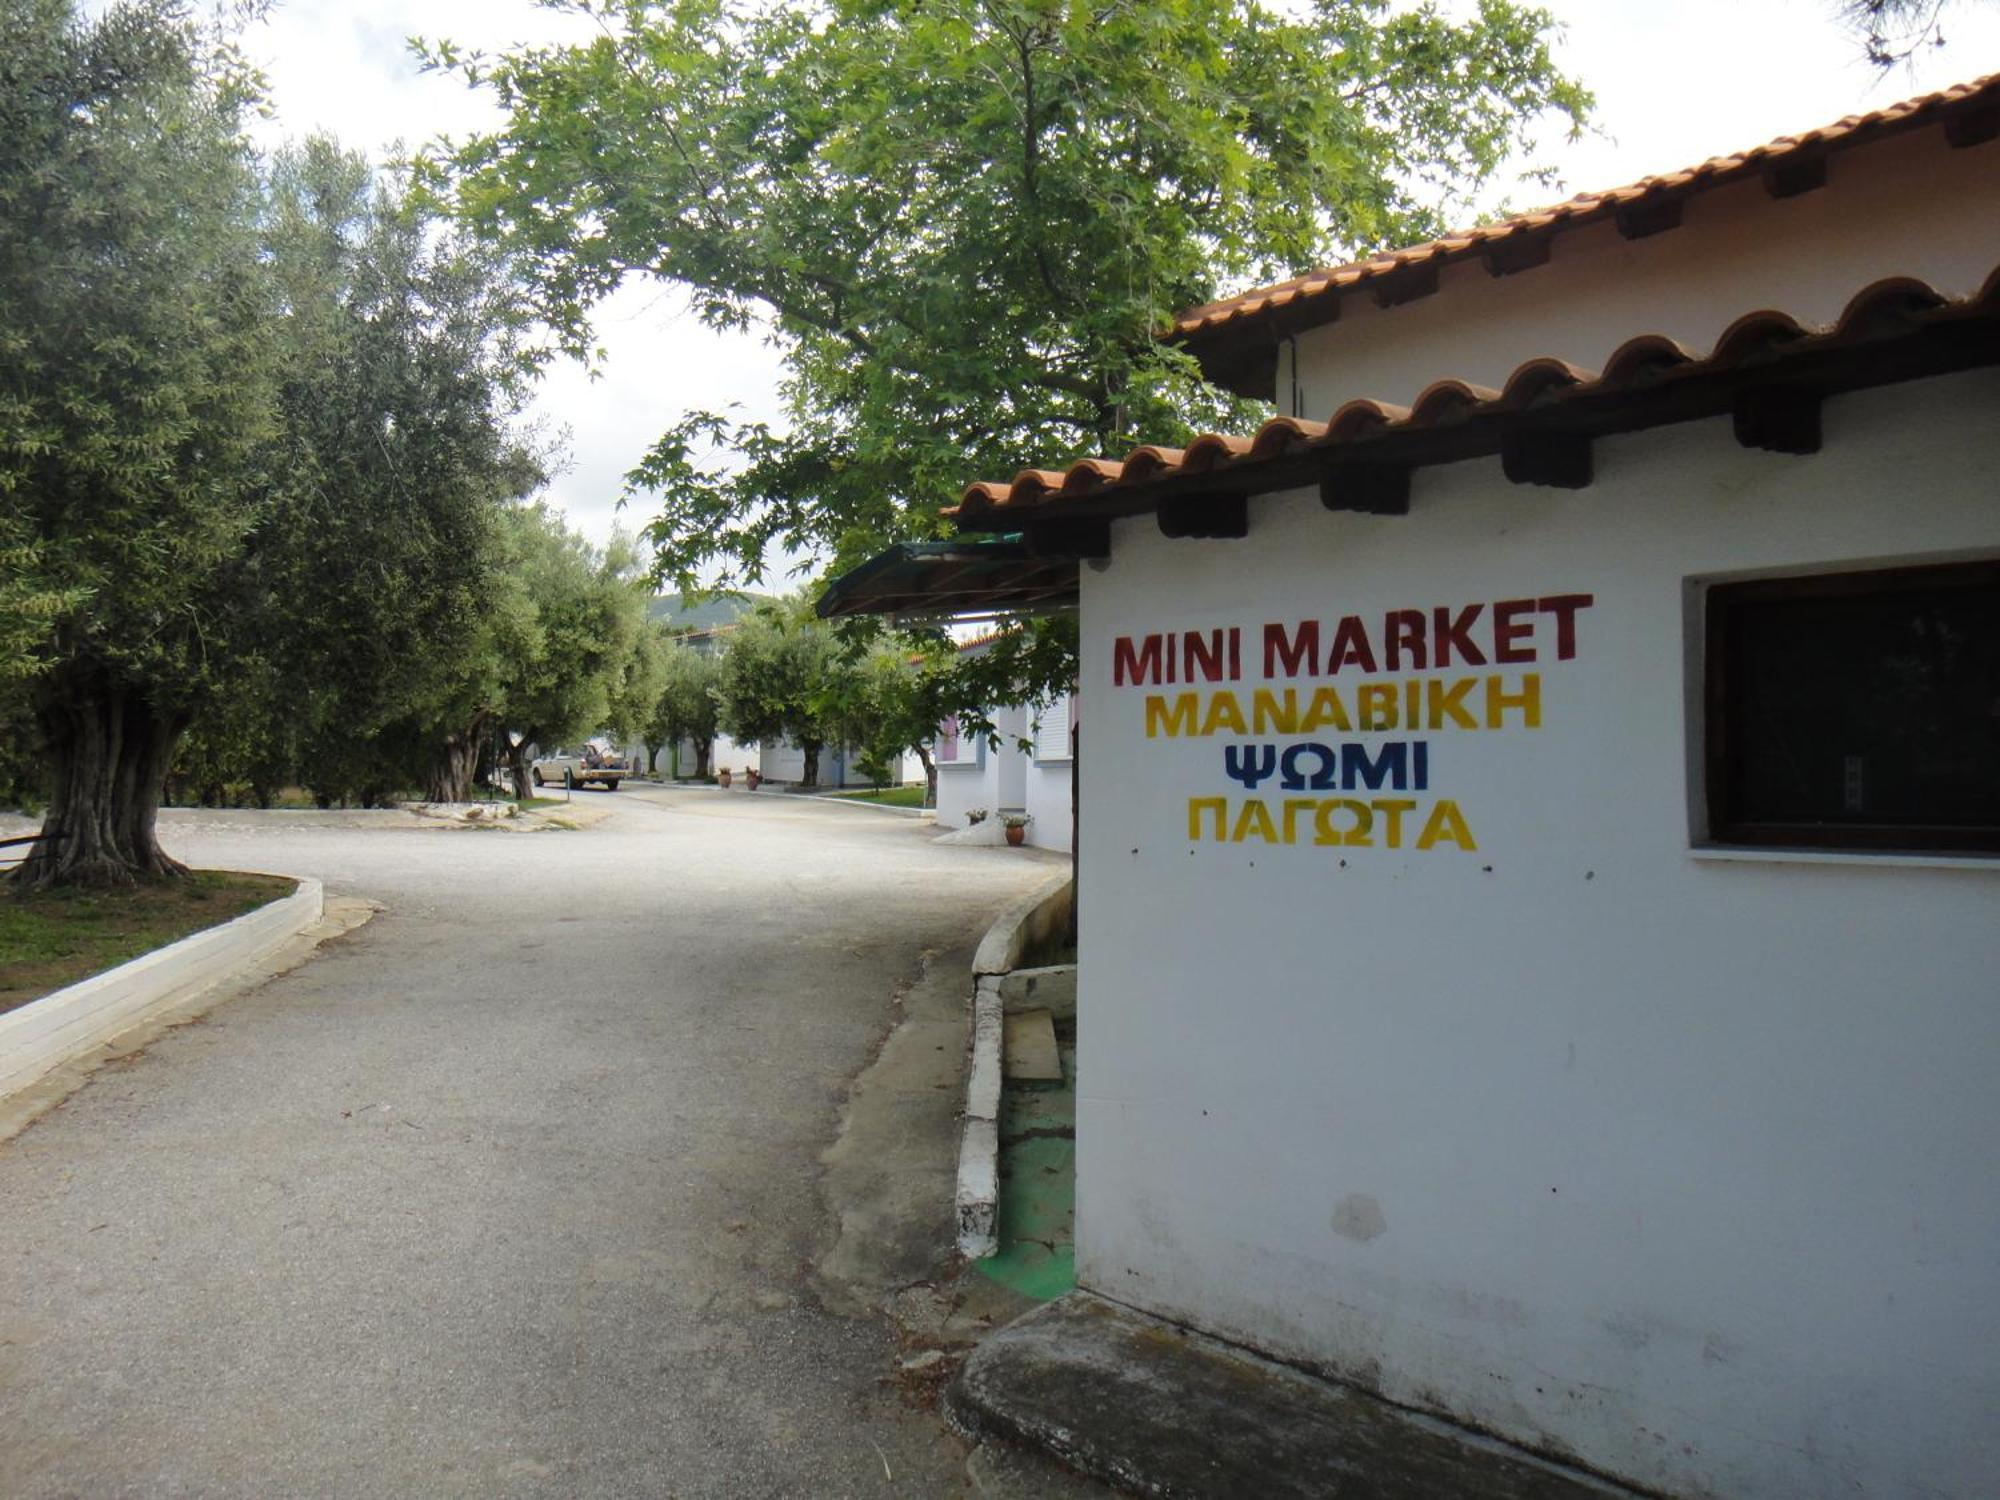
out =
[(634, 274), (768, 320), (786, 430), (692, 412), (632, 474), (684, 582), (854, 562), (968, 474), (1228, 420), (1168, 314), (1438, 230), (1588, 108), (1512, 0), (552, 4), (598, 40), (428, 48), (508, 110), (430, 170), (574, 348)]

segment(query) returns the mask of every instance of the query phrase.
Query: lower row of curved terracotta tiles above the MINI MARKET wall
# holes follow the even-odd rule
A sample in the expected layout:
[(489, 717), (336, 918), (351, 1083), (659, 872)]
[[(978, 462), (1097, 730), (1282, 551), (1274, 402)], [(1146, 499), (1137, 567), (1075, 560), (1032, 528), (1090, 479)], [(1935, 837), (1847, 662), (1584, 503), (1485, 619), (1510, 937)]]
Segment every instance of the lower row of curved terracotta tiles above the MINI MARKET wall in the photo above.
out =
[(1064, 474), (1030, 468), (1012, 484), (966, 486), (958, 506), (944, 514), (956, 516), (968, 530), (1002, 528), (1018, 524), (1042, 506), (1060, 506), (1066, 500), (1102, 498), (1108, 492), (1134, 492), (1182, 476), (1268, 464), (1302, 450), (1330, 452), (1342, 444), (1386, 434), (1444, 430), (1494, 414), (1644, 392), (1674, 380), (1754, 368), (1800, 348), (1830, 350), (1926, 324), (1972, 318), (2000, 318), (2000, 268), (1978, 292), (1958, 302), (1906, 276), (1872, 282), (1822, 328), (1808, 328), (1786, 312), (1750, 312), (1736, 318), (1706, 356), (1692, 354), (1664, 334), (1638, 334), (1620, 344), (1602, 370), (1536, 358), (1516, 366), (1500, 390), (1464, 380), (1438, 380), (1426, 386), (1412, 406), (1360, 398), (1340, 406), (1328, 422), (1278, 416), (1250, 436), (1202, 434), (1186, 450), (1134, 448), (1122, 462), (1086, 458)]

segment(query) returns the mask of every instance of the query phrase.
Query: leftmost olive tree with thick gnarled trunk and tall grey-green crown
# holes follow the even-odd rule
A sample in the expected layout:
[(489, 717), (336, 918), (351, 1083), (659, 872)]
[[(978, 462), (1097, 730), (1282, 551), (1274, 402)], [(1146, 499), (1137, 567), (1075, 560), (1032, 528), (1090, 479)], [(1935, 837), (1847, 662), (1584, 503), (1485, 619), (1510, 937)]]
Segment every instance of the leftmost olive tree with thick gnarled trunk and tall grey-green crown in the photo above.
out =
[(274, 428), (236, 60), (166, 0), (0, 0), (0, 596), (58, 764), (20, 878), (132, 880), (226, 670)]

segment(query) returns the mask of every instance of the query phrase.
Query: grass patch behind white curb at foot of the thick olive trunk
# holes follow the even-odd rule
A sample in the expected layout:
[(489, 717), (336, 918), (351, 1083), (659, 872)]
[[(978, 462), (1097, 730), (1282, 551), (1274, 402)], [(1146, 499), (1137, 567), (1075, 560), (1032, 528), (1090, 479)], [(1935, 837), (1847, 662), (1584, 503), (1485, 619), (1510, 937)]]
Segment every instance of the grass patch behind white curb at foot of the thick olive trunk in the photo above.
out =
[(0, 886), (0, 954), (6, 954), (0, 1012), (230, 922), (296, 888), (296, 880), (234, 870), (196, 870), (188, 880), (128, 890), (20, 892)]

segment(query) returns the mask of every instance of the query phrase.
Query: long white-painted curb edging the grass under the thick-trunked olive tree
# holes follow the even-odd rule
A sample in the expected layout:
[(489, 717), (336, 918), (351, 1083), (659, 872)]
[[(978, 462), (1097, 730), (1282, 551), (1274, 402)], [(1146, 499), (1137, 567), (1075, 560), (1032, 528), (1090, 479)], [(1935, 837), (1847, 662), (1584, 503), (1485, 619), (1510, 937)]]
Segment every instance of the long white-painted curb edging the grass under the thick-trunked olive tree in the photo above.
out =
[(318, 922), (326, 912), (324, 886), (310, 878), (284, 878), (298, 880), (290, 896), (0, 1016), (0, 1098), (28, 1088), (154, 1012), (214, 988)]

